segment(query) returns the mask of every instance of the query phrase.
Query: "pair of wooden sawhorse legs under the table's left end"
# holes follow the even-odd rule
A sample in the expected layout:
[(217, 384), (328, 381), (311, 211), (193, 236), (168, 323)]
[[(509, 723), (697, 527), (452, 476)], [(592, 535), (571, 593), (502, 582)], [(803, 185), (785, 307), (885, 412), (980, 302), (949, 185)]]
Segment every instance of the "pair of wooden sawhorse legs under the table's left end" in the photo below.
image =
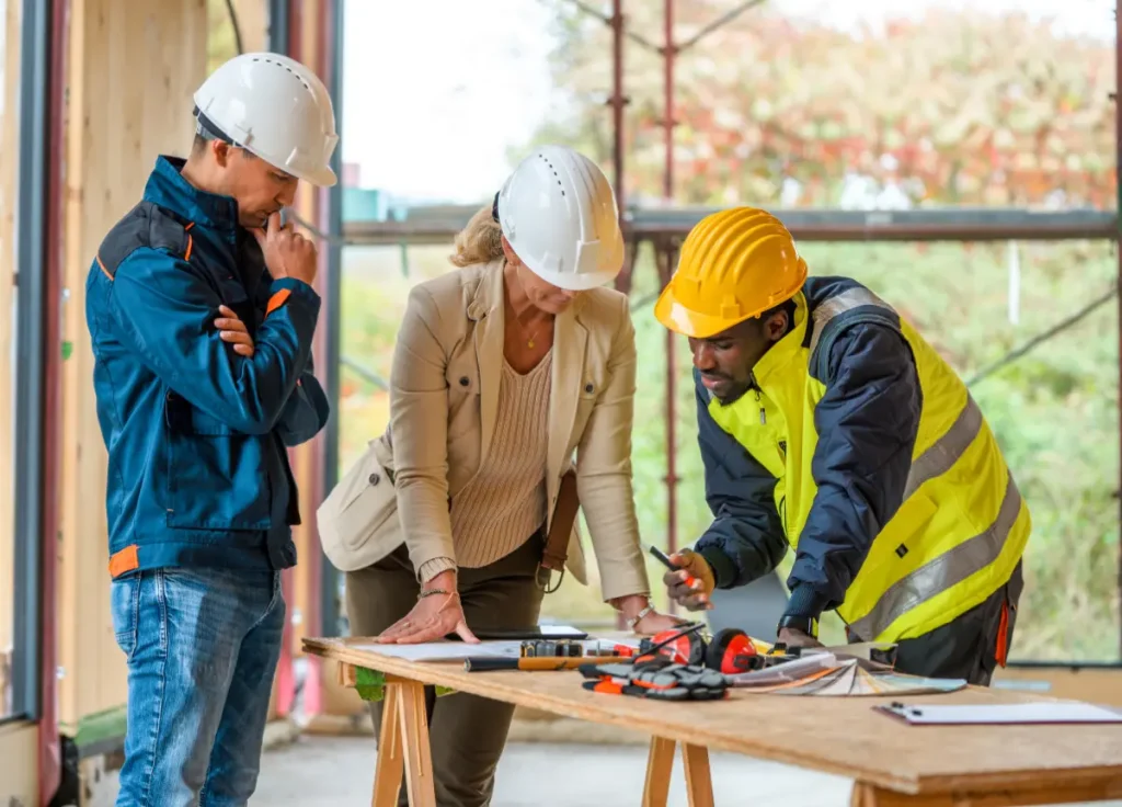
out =
[(410, 806), (436, 807), (424, 685), (386, 676), (373, 807), (396, 807), (403, 769)]

